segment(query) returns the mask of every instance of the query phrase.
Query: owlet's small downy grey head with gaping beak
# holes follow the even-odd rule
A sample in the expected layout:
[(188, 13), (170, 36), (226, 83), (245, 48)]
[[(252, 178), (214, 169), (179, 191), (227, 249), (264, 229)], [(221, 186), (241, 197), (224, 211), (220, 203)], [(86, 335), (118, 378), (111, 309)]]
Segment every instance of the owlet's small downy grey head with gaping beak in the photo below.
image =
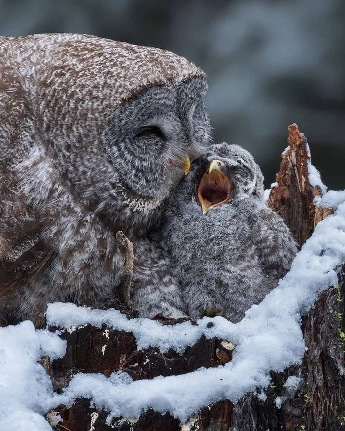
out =
[(199, 167), (197, 197), (206, 214), (219, 205), (249, 197), (262, 199), (264, 177), (253, 156), (239, 145), (214, 144)]

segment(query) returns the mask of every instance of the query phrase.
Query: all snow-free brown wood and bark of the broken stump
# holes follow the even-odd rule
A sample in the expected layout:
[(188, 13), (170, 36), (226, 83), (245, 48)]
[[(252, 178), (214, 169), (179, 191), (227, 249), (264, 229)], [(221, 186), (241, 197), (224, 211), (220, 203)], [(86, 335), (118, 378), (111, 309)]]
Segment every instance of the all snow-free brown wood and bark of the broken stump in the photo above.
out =
[[(277, 187), (269, 197), (270, 206), (290, 227), (299, 244), (313, 232), (314, 226), (332, 212), (315, 208), (313, 200), (321, 188), (311, 186), (308, 179), (310, 155), (306, 138), (293, 124), (289, 126), (289, 148), (282, 156), (277, 174)], [(119, 234), (120, 235), (120, 234)], [(128, 317), (135, 312), (128, 307), (131, 256), (133, 250), (126, 237), (118, 238), (124, 251), (122, 303), (112, 301)], [(128, 244), (129, 243), (129, 244)], [(132, 255), (131, 255), (132, 253)], [(133, 263), (133, 261), (132, 261)], [(300, 365), (292, 365), (281, 373), (272, 373), (272, 384), (267, 398), (260, 400), (254, 393), (246, 394), (234, 406), (230, 401), (219, 401), (205, 406), (188, 421), (188, 430), (199, 431), (337, 431), (345, 429), (345, 265), (339, 268), (339, 284), (322, 292), (312, 310), (302, 318), (306, 351)], [(164, 324), (178, 325), (184, 319), (165, 319)], [(134, 380), (150, 379), (158, 375), (184, 374), (204, 366), (215, 367), (232, 358), (234, 346), (220, 339), (202, 337), (183, 354), (173, 349), (161, 353), (157, 348), (138, 350), (132, 333), (113, 330), (105, 325), (98, 329), (91, 325), (65, 331), (67, 341), (63, 358), (42, 364), (52, 378), (56, 391), (68, 385), (77, 372), (103, 373), (125, 371)], [(295, 388), (285, 385), (289, 376), (300, 378)], [(260, 389), (257, 388), (260, 392)], [(51, 421), (59, 414), (63, 419), (56, 430), (70, 431), (147, 431), (181, 430), (182, 424), (170, 413), (161, 415), (148, 409), (138, 420), (113, 418), (106, 424), (107, 413), (96, 410), (88, 399), (77, 399), (69, 408), (60, 405), (47, 417)]]

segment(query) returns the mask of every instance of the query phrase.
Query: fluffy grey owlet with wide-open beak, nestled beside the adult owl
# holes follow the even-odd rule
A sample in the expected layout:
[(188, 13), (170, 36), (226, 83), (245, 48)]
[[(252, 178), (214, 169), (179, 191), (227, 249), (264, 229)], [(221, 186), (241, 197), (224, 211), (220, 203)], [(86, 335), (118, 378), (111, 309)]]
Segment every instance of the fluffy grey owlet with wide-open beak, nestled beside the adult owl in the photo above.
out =
[(296, 244), (263, 191), (251, 154), (226, 143), (212, 145), (177, 187), (161, 240), (194, 319), (238, 322), (289, 270)]

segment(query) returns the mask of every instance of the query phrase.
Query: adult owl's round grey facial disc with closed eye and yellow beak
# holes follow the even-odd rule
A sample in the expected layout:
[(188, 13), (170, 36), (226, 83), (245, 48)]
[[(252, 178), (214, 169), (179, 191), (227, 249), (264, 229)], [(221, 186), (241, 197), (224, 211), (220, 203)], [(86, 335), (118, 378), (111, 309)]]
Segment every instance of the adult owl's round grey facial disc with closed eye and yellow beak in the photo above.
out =
[[(209, 140), (207, 81), (194, 77), (140, 92), (121, 105), (104, 133), (117, 185), (140, 202), (167, 199)], [(136, 203), (133, 202), (133, 205)]]

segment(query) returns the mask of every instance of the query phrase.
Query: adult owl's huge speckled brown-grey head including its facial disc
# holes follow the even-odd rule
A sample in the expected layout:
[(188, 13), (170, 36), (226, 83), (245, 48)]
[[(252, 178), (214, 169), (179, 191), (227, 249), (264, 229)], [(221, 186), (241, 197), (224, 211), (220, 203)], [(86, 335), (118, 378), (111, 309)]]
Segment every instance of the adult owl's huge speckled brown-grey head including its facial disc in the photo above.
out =
[(203, 71), (93, 36), (0, 41), (1, 181), (38, 199), (68, 188), (116, 229), (144, 234), (207, 146)]

